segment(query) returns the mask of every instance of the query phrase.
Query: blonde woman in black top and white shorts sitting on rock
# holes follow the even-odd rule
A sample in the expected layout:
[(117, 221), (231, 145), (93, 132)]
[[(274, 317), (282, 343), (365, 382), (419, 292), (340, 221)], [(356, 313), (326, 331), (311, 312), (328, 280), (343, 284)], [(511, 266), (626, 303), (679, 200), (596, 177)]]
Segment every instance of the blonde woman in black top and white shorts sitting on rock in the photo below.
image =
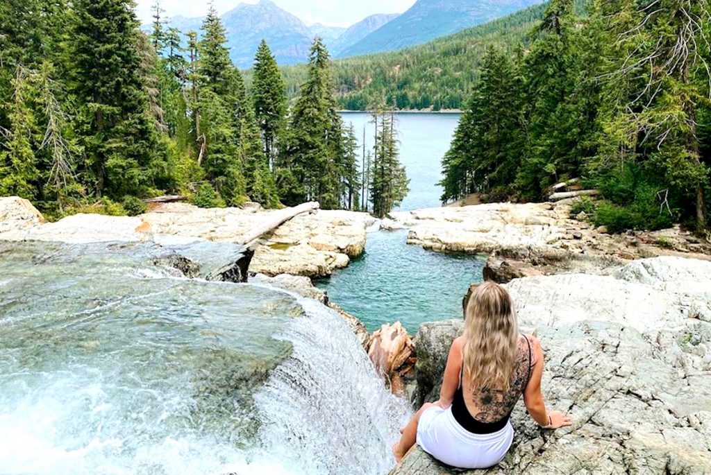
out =
[(464, 335), (454, 340), (439, 400), (426, 403), (392, 447), (400, 462), (415, 442), (424, 452), (461, 469), (501, 462), (511, 447), (510, 416), (523, 394), (528, 413), (545, 429), (570, 425), (570, 417), (547, 412), (540, 381), (543, 353), (535, 337), (518, 333), (506, 290), (485, 283), (466, 305)]

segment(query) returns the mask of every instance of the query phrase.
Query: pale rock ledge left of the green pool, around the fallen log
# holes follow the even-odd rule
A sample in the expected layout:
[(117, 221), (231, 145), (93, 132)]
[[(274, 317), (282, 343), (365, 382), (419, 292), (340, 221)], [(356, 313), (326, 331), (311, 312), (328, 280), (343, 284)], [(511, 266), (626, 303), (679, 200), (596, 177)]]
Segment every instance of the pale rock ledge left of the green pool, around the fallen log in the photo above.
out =
[[(47, 223), (27, 200), (5, 197), (0, 198), (0, 240), (234, 242), (268, 221), (272, 213), (258, 207), (201, 209), (167, 203), (138, 217), (75, 214)], [(301, 214), (258, 241), (250, 271), (267, 275), (330, 275), (363, 253), (365, 229), (370, 224), (373, 218), (365, 213)]]

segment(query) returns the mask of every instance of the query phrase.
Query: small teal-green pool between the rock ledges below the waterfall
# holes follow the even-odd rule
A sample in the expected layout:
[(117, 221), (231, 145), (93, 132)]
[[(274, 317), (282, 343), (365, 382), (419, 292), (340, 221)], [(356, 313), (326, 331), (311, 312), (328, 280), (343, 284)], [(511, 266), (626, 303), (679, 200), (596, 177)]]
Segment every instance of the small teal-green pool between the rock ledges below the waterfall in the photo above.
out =
[(371, 332), (400, 321), (415, 334), (423, 322), (461, 317), (461, 299), (469, 284), (481, 282), (483, 259), (425, 251), (406, 240), (407, 231), (370, 233), (363, 256), (315, 284)]

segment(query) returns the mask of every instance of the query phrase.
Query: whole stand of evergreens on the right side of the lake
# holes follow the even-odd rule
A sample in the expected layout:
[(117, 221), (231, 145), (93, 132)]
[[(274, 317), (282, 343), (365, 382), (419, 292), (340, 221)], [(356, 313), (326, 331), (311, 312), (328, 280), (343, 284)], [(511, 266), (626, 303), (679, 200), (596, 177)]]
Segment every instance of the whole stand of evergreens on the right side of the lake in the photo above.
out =
[(444, 196), (547, 198), (572, 178), (604, 200), (575, 212), (609, 231), (707, 228), (707, 0), (552, 0), (525, 50), (489, 45), (444, 158)]

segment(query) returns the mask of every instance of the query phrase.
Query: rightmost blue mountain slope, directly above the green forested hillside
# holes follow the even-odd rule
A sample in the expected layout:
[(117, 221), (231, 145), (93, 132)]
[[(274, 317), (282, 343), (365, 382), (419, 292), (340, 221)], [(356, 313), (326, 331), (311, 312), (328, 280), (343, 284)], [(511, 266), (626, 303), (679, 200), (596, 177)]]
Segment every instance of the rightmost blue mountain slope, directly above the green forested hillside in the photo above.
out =
[(348, 48), (341, 57), (399, 50), (501, 18), (543, 0), (418, 0)]

